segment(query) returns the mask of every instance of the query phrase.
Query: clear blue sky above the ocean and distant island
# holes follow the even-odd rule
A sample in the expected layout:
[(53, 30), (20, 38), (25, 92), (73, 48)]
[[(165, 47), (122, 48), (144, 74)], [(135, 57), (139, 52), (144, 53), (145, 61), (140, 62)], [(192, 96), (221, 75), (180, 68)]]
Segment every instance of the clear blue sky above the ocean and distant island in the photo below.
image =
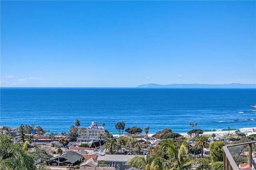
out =
[(2, 87), (256, 83), (256, 1), (0, 3)]

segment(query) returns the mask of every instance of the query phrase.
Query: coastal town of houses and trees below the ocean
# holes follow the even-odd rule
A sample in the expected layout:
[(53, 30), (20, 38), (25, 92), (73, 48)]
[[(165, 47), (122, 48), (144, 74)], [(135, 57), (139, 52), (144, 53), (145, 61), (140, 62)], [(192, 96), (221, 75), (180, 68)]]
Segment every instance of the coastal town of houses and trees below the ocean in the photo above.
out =
[[(117, 122), (118, 135), (112, 135), (104, 125), (92, 121), (83, 127), (77, 119), (69, 133), (61, 134), (34, 125), (2, 126), (0, 169), (224, 170), (228, 160), (224, 148), (231, 145), (236, 166), (255, 169), (255, 129), (243, 133), (227, 127), (227, 134), (210, 134), (190, 123), (186, 134), (165, 128), (149, 135), (149, 126), (126, 128), (125, 122)], [(23, 156), (15, 156), (17, 152)]]

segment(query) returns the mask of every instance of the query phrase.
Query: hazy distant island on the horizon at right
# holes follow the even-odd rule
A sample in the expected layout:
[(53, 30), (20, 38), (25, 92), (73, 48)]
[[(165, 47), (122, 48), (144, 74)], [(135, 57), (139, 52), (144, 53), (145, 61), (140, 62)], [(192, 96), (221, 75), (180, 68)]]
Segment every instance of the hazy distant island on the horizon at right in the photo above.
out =
[(142, 84), (137, 88), (256, 88), (256, 84)]

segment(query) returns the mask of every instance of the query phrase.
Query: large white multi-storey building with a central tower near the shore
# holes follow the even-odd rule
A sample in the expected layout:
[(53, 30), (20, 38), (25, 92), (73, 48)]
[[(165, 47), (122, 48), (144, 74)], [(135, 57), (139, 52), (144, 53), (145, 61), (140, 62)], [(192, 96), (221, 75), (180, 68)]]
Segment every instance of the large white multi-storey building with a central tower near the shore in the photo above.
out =
[(102, 126), (98, 126), (96, 121), (92, 121), (92, 124), (89, 127), (85, 127), (84, 132), (80, 132), (82, 128), (78, 129), (78, 133), (80, 137), (78, 141), (98, 141), (97, 135), (105, 133), (105, 128)]

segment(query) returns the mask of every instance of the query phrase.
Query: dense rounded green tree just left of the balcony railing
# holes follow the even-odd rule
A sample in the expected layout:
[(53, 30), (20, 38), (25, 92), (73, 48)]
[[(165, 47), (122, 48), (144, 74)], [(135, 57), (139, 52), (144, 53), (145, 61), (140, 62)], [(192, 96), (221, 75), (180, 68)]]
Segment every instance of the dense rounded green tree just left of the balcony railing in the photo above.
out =
[(225, 143), (222, 141), (210, 143), (210, 154), (212, 162), (223, 161), (223, 146), (225, 146)]

